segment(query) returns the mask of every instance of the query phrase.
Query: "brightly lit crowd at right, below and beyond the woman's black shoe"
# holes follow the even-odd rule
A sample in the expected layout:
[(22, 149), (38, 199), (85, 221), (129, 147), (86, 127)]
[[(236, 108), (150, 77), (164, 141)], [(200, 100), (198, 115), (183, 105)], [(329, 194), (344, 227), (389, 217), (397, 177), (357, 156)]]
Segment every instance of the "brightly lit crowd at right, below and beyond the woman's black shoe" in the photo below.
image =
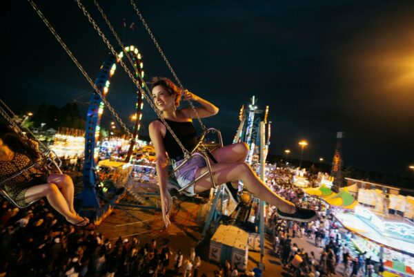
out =
[[(340, 229), (339, 223), (326, 209), (319, 198), (309, 197), (302, 189), (292, 184), (293, 171), (276, 169), (273, 178), (269, 180), (270, 187), (287, 200), (299, 206), (318, 211), (317, 220), (309, 223), (300, 223), (281, 220), (275, 211), (271, 211), (268, 229), (273, 238), (273, 251), (281, 259), (293, 276), (318, 277), (342, 274), (346, 277), (373, 276), (375, 265), (371, 257), (363, 254), (353, 254), (349, 247), (351, 233)], [(287, 177), (286, 177), (287, 176)], [(307, 238), (315, 242), (320, 248), (319, 253), (308, 253), (300, 247), (293, 238)], [(302, 241), (302, 240), (301, 240)], [(343, 269), (338, 272), (337, 266), (342, 262)], [(384, 264), (382, 260), (376, 271), (382, 275)]]

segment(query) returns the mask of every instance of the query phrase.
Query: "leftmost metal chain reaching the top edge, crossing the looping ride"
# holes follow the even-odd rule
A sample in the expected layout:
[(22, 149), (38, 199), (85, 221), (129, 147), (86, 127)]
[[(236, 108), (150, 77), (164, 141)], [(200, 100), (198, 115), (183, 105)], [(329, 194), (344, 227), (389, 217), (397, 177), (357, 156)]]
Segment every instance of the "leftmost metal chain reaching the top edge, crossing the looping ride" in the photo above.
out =
[(50, 25), (48, 19), (46, 19), (46, 17), (43, 15), (43, 13), (41, 12), (41, 10), (39, 10), (39, 8), (37, 7), (37, 5), (32, 0), (28, 0), (28, 1), (29, 1), (30, 5), (32, 6), (32, 8), (34, 9), (34, 11), (37, 13), (37, 15), (39, 15), (39, 17), (41, 18), (41, 20), (43, 21), (43, 23), (46, 24), (46, 26), (48, 27), (48, 29), (50, 30), (50, 32), (52, 32), (52, 34), (55, 36), (55, 38), (57, 39), (57, 41), (59, 41), (59, 44), (63, 47), (63, 49), (69, 55), (70, 59), (72, 59), (72, 61), (76, 64), (77, 68), (79, 68), (79, 70), (81, 70), (81, 73), (86, 78), (86, 80), (89, 82), (89, 84), (92, 86), (92, 88), (94, 88), (95, 92), (101, 97), (102, 102), (107, 106), (107, 108), (112, 113), (112, 115), (115, 116), (116, 120), (119, 122), (119, 124), (121, 124), (122, 128), (124, 128), (124, 131), (126, 131), (126, 133), (128, 133), (128, 136), (129, 137), (132, 137), (132, 133), (130, 133), (128, 127), (124, 124), (124, 122), (122, 122), (121, 117), (119, 117), (119, 115), (117, 114), (117, 112), (115, 111), (115, 109), (112, 108), (112, 106), (109, 104), (108, 100), (106, 100), (106, 98), (103, 97), (103, 94), (101, 93), (101, 91), (99, 90), (99, 88), (97, 88), (97, 86), (92, 81), (92, 79), (90, 79), (88, 73), (86, 73), (86, 70), (83, 69), (83, 67), (81, 66), (81, 64), (79, 64), (79, 61), (77, 61), (77, 59), (75, 58), (75, 56), (69, 50), (68, 46), (66, 46), (66, 44), (62, 41), (61, 37), (59, 37), (59, 35), (55, 31), (55, 29)]

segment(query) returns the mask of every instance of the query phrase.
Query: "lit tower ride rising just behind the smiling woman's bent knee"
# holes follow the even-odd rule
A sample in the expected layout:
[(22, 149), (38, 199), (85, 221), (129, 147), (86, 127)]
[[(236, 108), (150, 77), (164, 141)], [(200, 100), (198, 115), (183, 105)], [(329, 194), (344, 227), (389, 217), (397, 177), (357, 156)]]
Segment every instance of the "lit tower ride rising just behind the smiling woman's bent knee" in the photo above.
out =
[(270, 123), (267, 122), (269, 106), (266, 106), (266, 111), (259, 110), (257, 107), (257, 99), (253, 96), (248, 108), (243, 105), (239, 113), (239, 128), (233, 140), (236, 142), (246, 142), (250, 151), (246, 158), (246, 162), (252, 166), (253, 170), (257, 171), (257, 164), (259, 162), (259, 146), (260, 146), (260, 122), (267, 124), (267, 135), (265, 139), (266, 149), (270, 144)]

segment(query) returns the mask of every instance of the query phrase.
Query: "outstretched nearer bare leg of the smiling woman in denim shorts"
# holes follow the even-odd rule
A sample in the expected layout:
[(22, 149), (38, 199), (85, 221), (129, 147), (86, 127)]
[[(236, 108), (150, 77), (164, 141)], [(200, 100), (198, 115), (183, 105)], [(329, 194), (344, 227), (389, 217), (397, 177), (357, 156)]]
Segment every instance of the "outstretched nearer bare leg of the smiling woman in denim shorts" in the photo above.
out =
[[(279, 195), (270, 190), (269, 187), (262, 182), (257, 175), (253, 172), (248, 164), (245, 162), (224, 162), (213, 164), (211, 166), (213, 178), (216, 184), (224, 184), (226, 182), (235, 182), (242, 180), (244, 186), (250, 193), (253, 193), (257, 198), (268, 202), (269, 204), (276, 206), (280, 211), (285, 213), (295, 212), (295, 205), (292, 202), (284, 200)], [(196, 178), (207, 171), (207, 167), (203, 167), (197, 170)], [(206, 175), (205, 178), (201, 178), (196, 184), (195, 193), (201, 193), (212, 187), (210, 177)]]

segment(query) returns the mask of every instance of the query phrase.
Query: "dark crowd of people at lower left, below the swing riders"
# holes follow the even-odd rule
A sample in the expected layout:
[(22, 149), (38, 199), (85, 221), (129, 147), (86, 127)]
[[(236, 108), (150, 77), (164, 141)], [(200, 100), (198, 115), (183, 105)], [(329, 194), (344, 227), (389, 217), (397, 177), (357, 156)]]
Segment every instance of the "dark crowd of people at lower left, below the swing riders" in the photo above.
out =
[[(0, 276), (207, 277), (201, 258), (157, 246), (139, 237), (109, 240), (102, 233), (79, 229), (57, 218), (43, 199), (27, 209), (0, 200)], [(220, 265), (209, 276), (236, 277), (237, 269)]]

